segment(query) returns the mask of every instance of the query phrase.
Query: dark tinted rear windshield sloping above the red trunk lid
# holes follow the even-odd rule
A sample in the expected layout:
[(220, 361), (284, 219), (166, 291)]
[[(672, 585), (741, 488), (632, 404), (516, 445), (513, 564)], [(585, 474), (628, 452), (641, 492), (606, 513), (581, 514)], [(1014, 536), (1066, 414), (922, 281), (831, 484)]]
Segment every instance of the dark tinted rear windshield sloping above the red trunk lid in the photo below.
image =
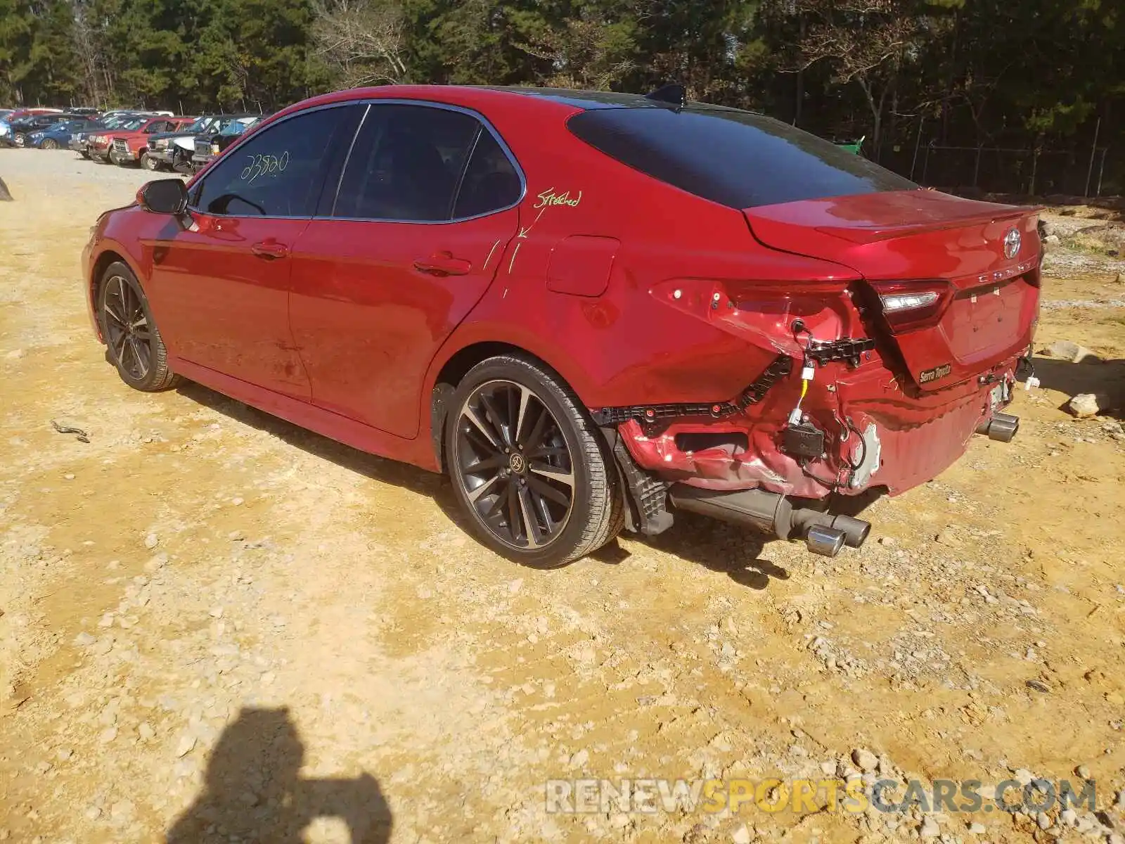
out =
[(731, 208), (918, 187), (836, 144), (750, 111), (603, 108), (575, 115), (567, 126), (621, 163)]

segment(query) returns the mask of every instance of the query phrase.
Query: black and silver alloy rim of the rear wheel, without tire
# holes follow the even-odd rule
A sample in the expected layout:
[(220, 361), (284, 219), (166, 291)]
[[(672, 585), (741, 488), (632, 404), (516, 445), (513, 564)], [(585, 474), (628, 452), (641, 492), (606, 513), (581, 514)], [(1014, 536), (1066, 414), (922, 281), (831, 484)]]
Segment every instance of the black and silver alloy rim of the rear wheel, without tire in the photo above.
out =
[(490, 380), (457, 416), (454, 478), (476, 518), (521, 550), (543, 548), (574, 509), (575, 463), (558, 420), (533, 390)]

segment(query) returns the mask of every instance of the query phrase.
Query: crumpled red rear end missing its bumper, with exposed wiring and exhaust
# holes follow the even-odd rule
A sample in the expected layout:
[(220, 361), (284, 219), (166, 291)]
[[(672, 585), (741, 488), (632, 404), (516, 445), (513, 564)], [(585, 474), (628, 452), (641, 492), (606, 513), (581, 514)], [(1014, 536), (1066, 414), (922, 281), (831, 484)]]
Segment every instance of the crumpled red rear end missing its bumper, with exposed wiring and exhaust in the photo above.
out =
[[(630, 417), (609, 430), (632, 491), (631, 527), (645, 533), (667, 528), (667, 502), (782, 539), (803, 538), (818, 554), (860, 547), (871, 526), (827, 512), (829, 496), (897, 495), (948, 468), (974, 433), (1010, 440), (1018, 419), (1000, 411), (1011, 401), (1018, 361), (925, 393), (904, 392), (878, 356), (839, 363), (821, 370), (828, 377), (818, 377), (817, 390), (801, 399), (796, 425), (800, 381), (785, 376), (738, 412), (728, 408), (739, 399), (685, 407), (682, 416), (660, 405), (651, 413), (622, 408)], [(613, 417), (602, 408), (595, 419), (608, 430)]]

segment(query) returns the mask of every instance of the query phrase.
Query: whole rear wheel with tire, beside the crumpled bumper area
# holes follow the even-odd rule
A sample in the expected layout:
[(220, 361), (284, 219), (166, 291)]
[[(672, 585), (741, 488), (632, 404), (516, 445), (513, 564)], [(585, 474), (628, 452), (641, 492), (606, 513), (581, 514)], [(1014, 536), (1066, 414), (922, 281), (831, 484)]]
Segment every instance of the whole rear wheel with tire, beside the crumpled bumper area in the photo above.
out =
[(448, 406), (450, 479), (489, 548), (555, 568), (621, 531), (624, 497), (613, 456), (556, 372), (519, 354), (488, 358), (461, 379)]

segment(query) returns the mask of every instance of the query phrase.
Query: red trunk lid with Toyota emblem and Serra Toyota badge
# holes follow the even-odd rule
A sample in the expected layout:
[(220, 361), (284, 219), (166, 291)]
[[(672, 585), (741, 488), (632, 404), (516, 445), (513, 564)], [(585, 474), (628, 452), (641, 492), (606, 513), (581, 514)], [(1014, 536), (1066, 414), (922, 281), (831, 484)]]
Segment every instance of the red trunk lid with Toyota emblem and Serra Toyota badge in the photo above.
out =
[(872, 322), (917, 385), (933, 390), (1030, 343), (1040, 302), (1038, 210), (902, 190), (744, 214), (766, 246), (862, 275)]

